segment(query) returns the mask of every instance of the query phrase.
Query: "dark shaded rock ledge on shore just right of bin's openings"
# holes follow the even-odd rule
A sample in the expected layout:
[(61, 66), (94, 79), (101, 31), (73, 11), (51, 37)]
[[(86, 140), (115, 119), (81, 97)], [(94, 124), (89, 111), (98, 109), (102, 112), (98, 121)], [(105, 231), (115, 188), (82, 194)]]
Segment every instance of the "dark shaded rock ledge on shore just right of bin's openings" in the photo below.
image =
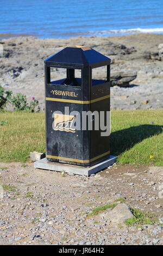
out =
[(137, 76), (137, 73), (123, 73), (123, 72), (112, 72), (111, 73), (111, 86), (128, 87), (129, 82), (133, 81)]

